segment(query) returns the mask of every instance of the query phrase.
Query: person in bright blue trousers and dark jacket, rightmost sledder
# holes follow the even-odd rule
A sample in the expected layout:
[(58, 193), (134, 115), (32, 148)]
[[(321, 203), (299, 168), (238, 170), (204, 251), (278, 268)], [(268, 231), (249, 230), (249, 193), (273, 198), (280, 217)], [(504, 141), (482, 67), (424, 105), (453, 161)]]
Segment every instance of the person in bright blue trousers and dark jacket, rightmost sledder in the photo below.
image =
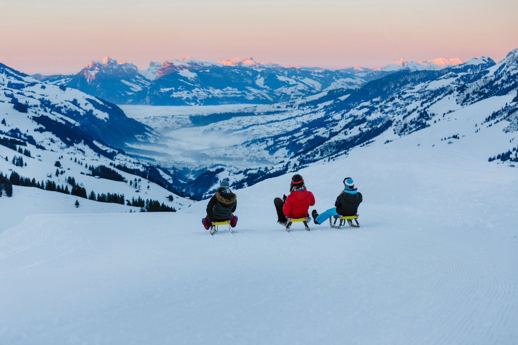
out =
[(362, 193), (354, 188), (354, 181), (351, 177), (343, 180), (344, 189), (336, 198), (335, 207), (318, 214), (313, 209), (311, 215), (315, 224), (322, 224), (327, 218), (333, 216), (354, 216), (358, 212), (358, 205), (363, 201)]

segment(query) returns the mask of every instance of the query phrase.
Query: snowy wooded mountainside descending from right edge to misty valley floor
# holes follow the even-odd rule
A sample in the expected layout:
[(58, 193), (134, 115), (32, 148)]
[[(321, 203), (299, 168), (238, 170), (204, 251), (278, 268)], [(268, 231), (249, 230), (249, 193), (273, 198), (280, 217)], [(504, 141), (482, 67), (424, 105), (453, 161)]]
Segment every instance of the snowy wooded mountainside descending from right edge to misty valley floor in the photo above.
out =
[[(333, 89), (294, 101), (248, 106), (237, 111), (189, 116), (153, 115), (152, 108), (138, 108), (137, 112), (149, 112), (140, 121), (172, 138), (163, 152), (185, 152), (185, 146), (179, 144), (181, 138), (198, 138), (200, 133), (207, 140), (224, 138), (219, 140), (218, 147), (204, 146), (200, 140), (185, 141), (197, 147), (190, 154), (204, 158), (176, 155), (170, 164), (191, 168), (196, 164), (209, 167), (214, 164), (212, 171), (222, 169), (220, 177), (229, 177), (237, 186), (244, 187), (296, 171), (304, 164), (347, 155), (355, 147), (373, 141), (389, 144), (429, 126), (465, 117), (465, 112), (484, 114), (479, 127), (472, 123), (475, 134), (483, 130), (480, 126), (494, 126), (495, 121), (501, 123), (503, 119), (507, 124), (504, 130), (515, 131), (518, 129), (517, 52), (511, 51), (498, 64), (482, 57), (443, 69), (402, 69), (356, 89)], [(133, 112), (132, 106), (123, 108)], [(450, 141), (453, 134), (457, 131), (445, 138)], [(230, 140), (225, 145), (227, 138)], [(514, 152), (512, 145), (493, 150), (485, 159), (509, 150)], [(221, 164), (229, 158), (234, 159), (230, 168)]]

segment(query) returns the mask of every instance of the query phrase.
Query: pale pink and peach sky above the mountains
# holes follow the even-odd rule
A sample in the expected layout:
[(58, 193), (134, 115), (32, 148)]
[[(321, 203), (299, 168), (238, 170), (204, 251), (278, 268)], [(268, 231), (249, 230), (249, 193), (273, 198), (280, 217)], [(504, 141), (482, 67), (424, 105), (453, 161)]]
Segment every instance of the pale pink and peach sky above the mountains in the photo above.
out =
[(0, 62), (76, 73), (110, 56), (150, 61), (252, 56), (281, 65), (378, 67), (394, 58), (489, 56), (518, 48), (516, 0), (0, 0)]

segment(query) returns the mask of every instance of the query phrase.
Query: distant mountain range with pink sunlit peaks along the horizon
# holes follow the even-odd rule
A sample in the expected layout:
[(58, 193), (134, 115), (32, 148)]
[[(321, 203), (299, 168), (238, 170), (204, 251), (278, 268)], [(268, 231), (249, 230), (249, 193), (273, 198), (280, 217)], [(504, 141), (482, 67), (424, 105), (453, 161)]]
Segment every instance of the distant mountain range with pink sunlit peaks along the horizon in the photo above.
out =
[(128, 62), (104, 57), (91, 61), (74, 76), (34, 77), (40, 81), (75, 87), (117, 104), (154, 106), (275, 103), (336, 88), (358, 88), (397, 70), (442, 69), (462, 64), (456, 57), (425, 62), (401, 59), (383, 68), (349, 67), (338, 70), (256, 62), (252, 57), (217, 63), (192, 57), (151, 62), (138, 70)]

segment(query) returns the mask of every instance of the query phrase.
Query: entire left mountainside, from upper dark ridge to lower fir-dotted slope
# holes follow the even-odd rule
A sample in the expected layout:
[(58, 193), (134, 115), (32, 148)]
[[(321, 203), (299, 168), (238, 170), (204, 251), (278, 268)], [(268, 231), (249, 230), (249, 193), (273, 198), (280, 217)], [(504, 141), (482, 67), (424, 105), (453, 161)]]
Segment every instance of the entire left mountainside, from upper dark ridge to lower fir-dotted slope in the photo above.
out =
[(40, 205), (61, 212), (76, 199), (82, 212), (133, 211), (128, 202), (148, 211), (190, 204), (174, 192), (167, 170), (117, 148), (160, 135), (114, 104), (0, 65), (0, 118), (0, 192), (10, 211), (2, 230), (23, 214), (41, 212)]

